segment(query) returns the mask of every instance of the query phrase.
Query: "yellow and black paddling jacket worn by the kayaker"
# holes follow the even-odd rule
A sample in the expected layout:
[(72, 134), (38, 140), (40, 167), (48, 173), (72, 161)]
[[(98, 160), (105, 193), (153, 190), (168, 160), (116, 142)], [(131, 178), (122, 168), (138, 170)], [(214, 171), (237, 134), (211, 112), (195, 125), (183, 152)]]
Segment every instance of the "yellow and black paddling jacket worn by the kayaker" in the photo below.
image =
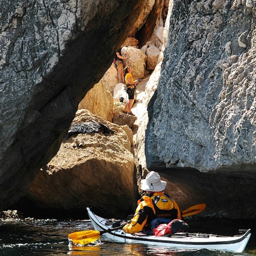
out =
[(163, 192), (154, 192), (150, 197), (143, 196), (138, 201), (131, 223), (125, 225), (123, 230), (129, 234), (140, 232), (145, 225), (150, 225), (152, 220), (159, 217), (181, 220), (181, 212), (174, 200)]

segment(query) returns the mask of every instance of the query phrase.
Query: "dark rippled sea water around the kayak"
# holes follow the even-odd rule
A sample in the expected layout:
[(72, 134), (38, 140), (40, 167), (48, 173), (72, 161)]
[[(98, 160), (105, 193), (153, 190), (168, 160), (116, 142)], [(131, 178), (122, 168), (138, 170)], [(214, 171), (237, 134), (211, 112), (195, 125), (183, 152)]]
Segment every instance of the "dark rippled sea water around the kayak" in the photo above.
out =
[(68, 243), (68, 234), (93, 230), (89, 220), (25, 220), (0, 221), (0, 256), (256, 256), (256, 221), (187, 218), (191, 232), (237, 235), (239, 229), (252, 229), (243, 253), (210, 250), (185, 250), (142, 244), (112, 243), (102, 236), (96, 244), (82, 247)]

